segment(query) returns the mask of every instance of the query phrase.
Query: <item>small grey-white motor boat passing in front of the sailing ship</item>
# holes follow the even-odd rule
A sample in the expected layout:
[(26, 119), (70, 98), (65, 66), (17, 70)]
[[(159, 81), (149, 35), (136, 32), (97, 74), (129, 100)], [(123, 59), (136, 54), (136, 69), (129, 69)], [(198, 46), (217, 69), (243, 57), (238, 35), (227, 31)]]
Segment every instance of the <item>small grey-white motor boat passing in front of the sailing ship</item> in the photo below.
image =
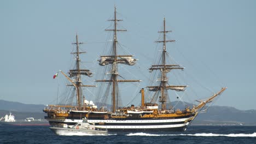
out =
[(56, 135), (107, 135), (107, 129), (95, 127), (94, 124), (88, 123), (86, 119), (82, 123), (75, 124), (72, 128), (50, 127)]

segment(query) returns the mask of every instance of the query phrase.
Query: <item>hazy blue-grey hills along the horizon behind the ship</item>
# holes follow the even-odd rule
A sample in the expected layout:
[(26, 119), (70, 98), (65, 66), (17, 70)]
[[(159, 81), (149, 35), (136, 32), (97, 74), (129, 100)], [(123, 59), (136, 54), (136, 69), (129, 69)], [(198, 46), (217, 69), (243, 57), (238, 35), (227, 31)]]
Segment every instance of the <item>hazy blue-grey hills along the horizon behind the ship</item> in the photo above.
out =
[[(193, 106), (190, 103), (174, 101), (171, 103), (176, 109), (183, 109), (184, 104)], [(46, 113), (43, 112), (45, 105), (22, 104), (0, 100), (0, 118), (12, 112), (16, 119), (34, 117), (43, 119)], [(194, 119), (195, 125), (256, 125), (256, 110), (237, 110), (230, 106), (210, 106), (206, 112), (199, 113)]]

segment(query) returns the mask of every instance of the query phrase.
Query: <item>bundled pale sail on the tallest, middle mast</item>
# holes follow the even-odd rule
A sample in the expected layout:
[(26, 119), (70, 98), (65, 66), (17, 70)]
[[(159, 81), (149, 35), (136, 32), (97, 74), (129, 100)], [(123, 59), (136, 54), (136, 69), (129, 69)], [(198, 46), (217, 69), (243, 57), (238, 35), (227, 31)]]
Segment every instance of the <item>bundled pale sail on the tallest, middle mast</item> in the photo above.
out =
[[(132, 56), (117, 56), (116, 63), (121, 64), (127, 64), (127, 65), (134, 65), (137, 59), (132, 58)], [(113, 64), (115, 61), (114, 56), (101, 56), (101, 59), (98, 60), (101, 66), (107, 65), (107, 64)]]

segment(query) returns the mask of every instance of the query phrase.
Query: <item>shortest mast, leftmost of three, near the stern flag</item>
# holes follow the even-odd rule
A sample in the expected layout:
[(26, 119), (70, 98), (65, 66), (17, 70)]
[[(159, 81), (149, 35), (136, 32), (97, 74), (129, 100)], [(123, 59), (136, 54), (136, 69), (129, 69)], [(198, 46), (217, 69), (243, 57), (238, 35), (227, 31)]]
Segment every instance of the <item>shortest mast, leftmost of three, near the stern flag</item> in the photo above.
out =
[(75, 77), (75, 79), (73, 81), (68, 79), (73, 84), (73, 85), (68, 85), (68, 86), (74, 86), (75, 87), (75, 91), (77, 93), (77, 106), (78, 106), (78, 109), (81, 110), (82, 102), (83, 102), (82, 101), (82, 88), (81, 87), (96, 87), (96, 86), (82, 85), (81, 75), (87, 75), (87, 76), (91, 77), (92, 73), (90, 72), (90, 70), (80, 69), (79, 54), (80, 53), (85, 53), (85, 52), (79, 52), (79, 44), (83, 44), (83, 43), (78, 42), (78, 35), (77, 34), (75, 35), (75, 39), (76, 39), (76, 42), (72, 43), (72, 44), (75, 44), (77, 47), (76, 47), (76, 52), (72, 52), (72, 54), (75, 55), (75, 59), (76, 59), (75, 68), (76, 69), (69, 70), (69, 77)]

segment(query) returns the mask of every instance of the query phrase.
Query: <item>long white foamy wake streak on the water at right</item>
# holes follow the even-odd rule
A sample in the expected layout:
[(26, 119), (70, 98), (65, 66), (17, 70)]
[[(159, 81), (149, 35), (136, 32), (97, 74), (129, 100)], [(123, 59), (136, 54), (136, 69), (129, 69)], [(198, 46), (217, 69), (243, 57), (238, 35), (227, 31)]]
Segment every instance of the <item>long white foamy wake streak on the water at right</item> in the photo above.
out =
[(228, 136), (228, 137), (256, 137), (256, 133), (253, 134), (213, 134), (213, 133), (201, 133), (201, 134), (147, 134), (147, 133), (131, 133), (127, 136)]

